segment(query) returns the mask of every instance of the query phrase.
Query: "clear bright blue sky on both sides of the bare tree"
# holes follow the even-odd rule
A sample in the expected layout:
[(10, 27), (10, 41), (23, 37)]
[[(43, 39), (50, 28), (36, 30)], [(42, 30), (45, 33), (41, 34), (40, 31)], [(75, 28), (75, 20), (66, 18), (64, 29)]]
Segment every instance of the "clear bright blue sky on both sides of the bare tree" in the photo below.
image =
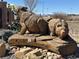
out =
[[(8, 3), (25, 5), (24, 0), (6, 0)], [(54, 12), (79, 14), (79, 0), (38, 0), (34, 12), (52, 14)]]

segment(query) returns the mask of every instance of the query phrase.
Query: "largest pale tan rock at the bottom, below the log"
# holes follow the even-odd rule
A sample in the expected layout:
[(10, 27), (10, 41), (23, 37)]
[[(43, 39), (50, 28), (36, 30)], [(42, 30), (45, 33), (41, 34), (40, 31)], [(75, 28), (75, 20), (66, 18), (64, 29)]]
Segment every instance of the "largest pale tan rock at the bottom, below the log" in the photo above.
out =
[(42, 53), (39, 51), (38, 48), (31, 49), (31, 48), (21, 48), (20, 51), (15, 53), (15, 57), (17, 59), (39, 59)]

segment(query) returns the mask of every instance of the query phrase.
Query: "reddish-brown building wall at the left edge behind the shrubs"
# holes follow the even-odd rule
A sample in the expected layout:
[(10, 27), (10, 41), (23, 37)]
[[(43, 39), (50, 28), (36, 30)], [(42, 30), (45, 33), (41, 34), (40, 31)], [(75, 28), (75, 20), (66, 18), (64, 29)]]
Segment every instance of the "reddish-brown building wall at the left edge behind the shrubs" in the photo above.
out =
[(7, 28), (7, 25), (14, 19), (11, 9), (7, 8), (7, 2), (0, 2), (0, 9), (2, 10), (2, 16), (0, 17), (0, 28)]

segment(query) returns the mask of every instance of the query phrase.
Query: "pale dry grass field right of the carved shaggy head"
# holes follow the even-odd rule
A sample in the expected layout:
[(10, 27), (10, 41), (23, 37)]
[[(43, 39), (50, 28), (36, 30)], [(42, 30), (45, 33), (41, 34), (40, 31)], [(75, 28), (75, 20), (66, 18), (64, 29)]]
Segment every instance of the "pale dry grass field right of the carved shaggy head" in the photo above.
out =
[(69, 34), (79, 43), (79, 21), (67, 21), (69, 25)]

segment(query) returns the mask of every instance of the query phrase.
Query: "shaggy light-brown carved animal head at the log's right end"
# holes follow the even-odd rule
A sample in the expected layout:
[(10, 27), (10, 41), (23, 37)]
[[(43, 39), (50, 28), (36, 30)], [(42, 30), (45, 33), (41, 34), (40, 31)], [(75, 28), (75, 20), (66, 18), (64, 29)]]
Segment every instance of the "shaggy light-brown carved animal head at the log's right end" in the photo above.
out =
[(66, 35), (68, 35), (69, 32), (68, 24), (63, 19), (51, 19), (48, 22), (48, 26), (50, 35), (55, 35), (60, 38), (63, 38)]

